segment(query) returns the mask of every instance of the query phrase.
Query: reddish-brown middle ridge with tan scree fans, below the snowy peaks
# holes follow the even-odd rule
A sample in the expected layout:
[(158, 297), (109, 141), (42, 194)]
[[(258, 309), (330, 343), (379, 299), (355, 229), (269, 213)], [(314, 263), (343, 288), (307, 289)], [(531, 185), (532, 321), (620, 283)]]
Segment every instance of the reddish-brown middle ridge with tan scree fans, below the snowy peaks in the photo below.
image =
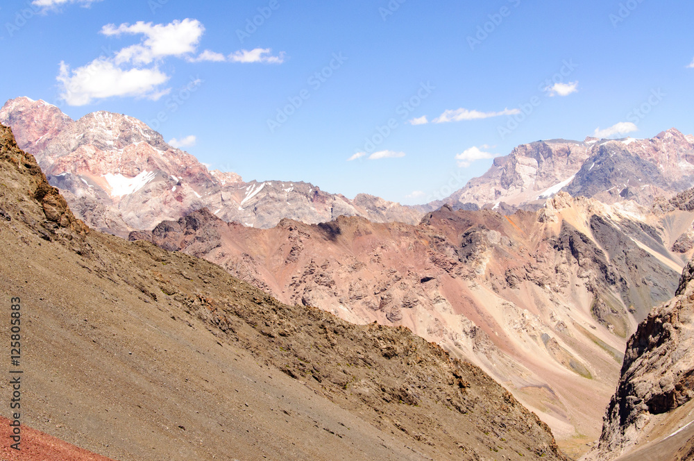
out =
[(287, 303), (407, 326), (567, 439), (598, 437), (626, 338), (675, 292), (684, 262), (663, 223), (677, 213), (560, 193), (539, 212), (443, 207), (418, 226), (341, 217), (258, 230), (200, 210), (131, 238), (217, 262)]

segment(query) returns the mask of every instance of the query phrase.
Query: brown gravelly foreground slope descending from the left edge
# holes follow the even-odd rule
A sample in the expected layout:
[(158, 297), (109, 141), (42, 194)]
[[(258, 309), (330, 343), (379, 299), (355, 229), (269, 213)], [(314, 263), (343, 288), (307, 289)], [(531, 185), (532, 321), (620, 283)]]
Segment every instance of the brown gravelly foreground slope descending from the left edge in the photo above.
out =
[(407, 328), (284, 305), (210, 262), (88, 232), (54, 192), (0, 128), (24, 424), (121, 461), (564, 459), (505, 389)]

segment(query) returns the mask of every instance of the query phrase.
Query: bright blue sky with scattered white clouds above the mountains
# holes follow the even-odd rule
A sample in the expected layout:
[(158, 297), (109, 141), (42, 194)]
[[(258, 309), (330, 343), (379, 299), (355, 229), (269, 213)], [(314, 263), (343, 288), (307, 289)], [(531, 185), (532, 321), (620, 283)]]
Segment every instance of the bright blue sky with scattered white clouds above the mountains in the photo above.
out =
[(694, 133), (691, 1), (5, 0), (0, 18), (3, 101), (125, 113), (246, 181), (423, 203), (524, 142)]

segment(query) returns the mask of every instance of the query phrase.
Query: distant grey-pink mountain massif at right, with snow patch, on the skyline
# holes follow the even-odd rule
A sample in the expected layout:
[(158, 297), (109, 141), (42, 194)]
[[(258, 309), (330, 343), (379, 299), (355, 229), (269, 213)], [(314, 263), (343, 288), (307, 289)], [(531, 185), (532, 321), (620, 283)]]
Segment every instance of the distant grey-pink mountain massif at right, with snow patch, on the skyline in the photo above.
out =
[[(539, 208), (560, 190), (603, 203), (633, 200), (648, 206), (694, 185), (694, 136), (670, 128), (652, 139), (583, 142), (545, 140), (521, 144), (495, 158), (440, 204), (454, 208)], [(440, 205), (439, 204), (439, 205)]]

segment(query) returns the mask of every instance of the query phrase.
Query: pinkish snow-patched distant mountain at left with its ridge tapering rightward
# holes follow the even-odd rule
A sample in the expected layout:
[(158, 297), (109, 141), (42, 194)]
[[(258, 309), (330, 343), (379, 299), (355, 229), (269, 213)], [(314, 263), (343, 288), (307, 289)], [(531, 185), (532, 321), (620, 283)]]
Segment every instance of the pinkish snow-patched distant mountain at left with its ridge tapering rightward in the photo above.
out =
[(73, 121), (56, 106), (21, 97), (7, 101), (0, 123), (12, 127), (79, 217), (115, 235), (203, 207), (258, 228), (285, 217), (318, 223), (339, 215), (415, 224), (423, 214), (366, 194), (349, 200), (300, 181), (244, 182), (235, 173), (208, 171), (127, 115), (94, 112)]

